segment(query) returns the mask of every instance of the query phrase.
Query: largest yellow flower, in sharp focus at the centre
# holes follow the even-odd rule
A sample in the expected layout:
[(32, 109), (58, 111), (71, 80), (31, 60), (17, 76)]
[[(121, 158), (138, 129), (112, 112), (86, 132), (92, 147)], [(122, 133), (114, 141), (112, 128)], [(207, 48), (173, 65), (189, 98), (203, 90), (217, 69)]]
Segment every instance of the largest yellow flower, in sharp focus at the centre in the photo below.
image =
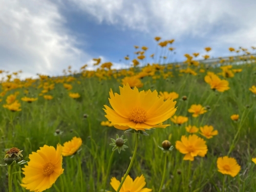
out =
[(151, 129), (153, 127), (165, 128), (169, 124), (163, 125), (162, 122), (172, 117), (175, 112), (176, 101), (163, 97), (159, 98), (157, 91), (147, 93), (139, 92), (135, 87), (130, 88), (129, 84), (119, 87), (120, 95), (110, 91), (110, 104), (104, 105), (105, 117), (119, 130), (134, 130)]

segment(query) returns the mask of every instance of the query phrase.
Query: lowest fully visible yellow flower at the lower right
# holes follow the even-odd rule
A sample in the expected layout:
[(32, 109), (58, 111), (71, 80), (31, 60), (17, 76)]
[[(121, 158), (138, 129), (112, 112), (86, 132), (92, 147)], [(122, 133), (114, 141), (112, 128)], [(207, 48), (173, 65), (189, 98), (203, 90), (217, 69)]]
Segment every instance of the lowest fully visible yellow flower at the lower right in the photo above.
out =
[(235, 177), (240, 172), (240, 165), (232, 157), (219, 157), (217, 160), (218, 172)]

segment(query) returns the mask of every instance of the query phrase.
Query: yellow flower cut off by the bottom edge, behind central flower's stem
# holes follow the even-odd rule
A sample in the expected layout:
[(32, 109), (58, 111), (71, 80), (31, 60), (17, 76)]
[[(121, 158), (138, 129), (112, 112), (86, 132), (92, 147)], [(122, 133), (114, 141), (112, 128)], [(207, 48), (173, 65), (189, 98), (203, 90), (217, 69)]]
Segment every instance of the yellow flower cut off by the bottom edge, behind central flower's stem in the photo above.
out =
[[(118, 181), (115, 177), (113, 177), (111, 179), (110, 184), (116, 191), (120, 185), (120, 181)], [(150, 191), (152, 191), (152, 189), (143, 188), (145, 185), (146, 185), (146, 182), (145, 182), (145, 178), (143, 175), (141, 175), (140, 177), (137, 177), (134, 181), (128, 175), (120, 189), (120, 192), (128, 192), (128, 191), (129, 192), (150, 192)]]

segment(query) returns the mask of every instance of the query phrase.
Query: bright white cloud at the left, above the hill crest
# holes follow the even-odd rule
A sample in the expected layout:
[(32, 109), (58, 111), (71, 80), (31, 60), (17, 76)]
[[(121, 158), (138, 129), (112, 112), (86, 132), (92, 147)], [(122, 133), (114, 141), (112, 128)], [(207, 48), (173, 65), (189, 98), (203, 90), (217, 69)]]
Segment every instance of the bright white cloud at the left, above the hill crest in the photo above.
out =
[(0, 69), (60, 75), (69, 65), (81, 66), (89, 56), (76, 48), (55, 4), (0, 0)]

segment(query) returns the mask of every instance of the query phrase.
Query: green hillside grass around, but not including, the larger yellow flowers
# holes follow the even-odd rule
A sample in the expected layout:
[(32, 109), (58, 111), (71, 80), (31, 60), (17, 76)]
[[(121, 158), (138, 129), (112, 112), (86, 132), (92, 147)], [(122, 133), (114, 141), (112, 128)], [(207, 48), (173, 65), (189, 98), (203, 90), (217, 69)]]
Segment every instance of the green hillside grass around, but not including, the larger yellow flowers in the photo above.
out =
[[(227, 64), (224, 62), (222, 66)], [(133, 156), (137, 134), (124, 133), (114, 126), (102, 126), (101, 122), (108, 120), (103, 105), (111, 106), (111, 89), (119, 94), (119, 86), (122, 87), (124, 82), (122, 79), (134, 77), (142, 69), (147, 75), (140, 79), (143, 86), (138, 88), (139, 91), (176, 92), (179, 97), (175, 99), (175, 115), (188, 117), (188, 121), (179, 125), (168, 118), (164, 124), (170, 126), (165, 129), (146, 131), (149, 136), (139, 134), (137, 155), (129, 175), (135, 179), (143, 174), (145, 187), (153, 191), (256, 191), (256, 166), (252, 162), (252, 158), (256, 157), (256, 97), (249, 91), (256, 85), (256, 63), (250, 60), (228, 69), (234, 75), (231, 78), (226, 78), (223, 69), (205, 65), (152, 65), (121, 71), (105, 68), (58, 78), (40, 76), (37, 80), (26, 81), (14, 80), (13, 75), (9, 81), (2, 82), (1, 104), (7, 104), (7, 97), (13, 94), (21, 103), (21, 111), (13, 112), (1, 106), (0, 156), (4, 159), (9, 148), (18, 147), (23, 150), (22, 159), (29, 161), (29, 154), (39, 150), (39, 147), (49, 145), (56, 148), (58, 143), (80, 137), (81, 150), (73, 156), (63, 157), (64, 172), (46, 191), (103, 191), (105, 180), (106, 191), (115, 191), (110, 180), (116, 177), (120, 181), (125, 174)], [(242, 71), (236, 73), (233, 69)], [(207, 72), (226, 79), (230, 89), (224, 92), (212, 90), (204, 79)], [(12, 83), (11, 86), (6, 86), (6, 82)], [(72, 89), (67, 90), (64, 83), (70, 84)], [(73, 99), (69, 92), (79, 93), (80, 97)], [(44, 95), (53, 98), (47, 100)], [(38, 99), (29, 103), (22, 100), (25, 96)], [(183, 96), (187, 99), (183, 100)], [(193, 104), (201, 104), (207, 112), (193, 117), (188, 112)], [(232, 120), (230, 116), (233, 114), (238, 114), (239, 120)], [(195, 157), (194, 161), (183, 160), (184, 154), (176, 148), (182, 136), (190, 135), (185, 129), (188, 125), (198, 128), (212, 125), (218, 131), (218, 135), (210, 139), (195, 133), (206, 141), (208, 151), (203, 157)], [(125, 145), (129, 147), (120, 154), (112, 152), (113, 146), (110, 146), (111, 138), (115, 139), (116, 134), (123, 135), (127, 139)], [(158, 147), (164, 140), (172, 143), (172, 152), (163, 153)], [(235, 177), (218, 172), (217, 159), (224, 156), (236, 159), (241, 166)], [(0, 163), (5, 164), (4, 161)], [(24, 164), (14, 166), (13, 191), (28, 191), (20, 186), (24, 177), (23, 167)], [(159, 190), (163, 174), (163, 186)], [(8, 191), (8, 166), (0, 167), (0, 176), (0, 191)]]

